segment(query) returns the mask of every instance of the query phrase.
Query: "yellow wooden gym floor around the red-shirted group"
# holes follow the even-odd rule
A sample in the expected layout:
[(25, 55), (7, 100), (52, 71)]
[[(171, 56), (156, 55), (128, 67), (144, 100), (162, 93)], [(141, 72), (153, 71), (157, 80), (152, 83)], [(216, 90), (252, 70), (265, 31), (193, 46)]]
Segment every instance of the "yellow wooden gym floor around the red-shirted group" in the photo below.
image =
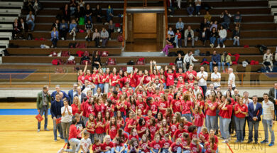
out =
[[(36, 102), (1, 102), (0, 114), (4, 110), (2, 109), (36, 109)], [(65, 142), (58, 138), (58, 142), (54, 142), (53, 137), (53, 120), (51, 116), (48, 116), (48, 129), (49, 132), (41, 130), (39, 133), (37, 130), (37, 120), (35, 115), (0, 115), (0, 148), (1, 153), (11, 152), (26, 152), (26, 153), (50, 153), (58, 152), (58, 149), (63, 147)], [(43, 129), (44, 122), (41, 127)], [(246, 126), (247, 130), (247, 126)], [(260, 122), (259, 125), (259, 142), (264, 138), (264, 128)], [(274, 126), (275, 135), (277, 134), (277, 125)], [(246, 138), (248, 132), (246, 132)], [(270, 137), (270, 136), (269, 136)], [(229, 143), (234, 153), (271, 153), (276, 152), (276, 145), (268, 147), (262, 144), (235, 144), (236, 138), (232, 138), (232, 142)], [(269, 139), (270, 141), (271, 139)], [(231, 153), (227, 144), (222, 144), (222, 140), (219, 139), (219, 152)]]

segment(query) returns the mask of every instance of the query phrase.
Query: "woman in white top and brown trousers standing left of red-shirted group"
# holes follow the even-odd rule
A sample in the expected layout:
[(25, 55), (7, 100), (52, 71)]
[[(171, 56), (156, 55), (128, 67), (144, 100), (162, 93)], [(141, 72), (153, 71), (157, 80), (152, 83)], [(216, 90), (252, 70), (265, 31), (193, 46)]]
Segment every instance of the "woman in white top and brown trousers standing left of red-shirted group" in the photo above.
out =
[(63, 128), (63, 137), (65, 138), (65, 143), (68, 142), (69, 128), (72, 122), (72, 107), (68, 105), (68, 102), (63, 101), (63, 107), (61, 108), (62, 112), (62, 128)]

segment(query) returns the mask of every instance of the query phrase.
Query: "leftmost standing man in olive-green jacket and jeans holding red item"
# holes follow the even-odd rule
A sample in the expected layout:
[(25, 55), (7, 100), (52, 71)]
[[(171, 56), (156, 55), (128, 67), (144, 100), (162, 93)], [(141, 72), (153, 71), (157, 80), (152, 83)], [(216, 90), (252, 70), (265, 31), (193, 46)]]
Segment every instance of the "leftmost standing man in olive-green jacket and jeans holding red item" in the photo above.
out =
[[(48, 109), (49, 109), (49, 103), (51, 102), (51, 97), (50, 97), (50, 93), (48, 93), (48, 86), (45, 85), (43, 87), (43, 91), (40, 91), (40, 93), (38, 93), (38, 97), (36, 98), (36, 107), (38, 109), (38, 113), (43, 116), (44, 113), (44, 130), (45, 131), (49, 131), (47, 128), (48, 125)], [(38, 122), (38, 132), (40, 132), (40, 123)]]

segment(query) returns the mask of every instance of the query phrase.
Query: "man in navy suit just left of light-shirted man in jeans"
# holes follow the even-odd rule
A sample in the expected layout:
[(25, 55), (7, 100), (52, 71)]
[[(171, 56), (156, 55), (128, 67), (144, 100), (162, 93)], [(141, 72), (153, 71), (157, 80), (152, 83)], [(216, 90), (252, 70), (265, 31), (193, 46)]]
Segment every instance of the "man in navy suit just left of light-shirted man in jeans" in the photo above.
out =
[(258, 144), (259, 122), (261, 121), (261, 113), (263, 112), (263, 108), (261, 107), (261, 103), (258, 102), (258, 96), (254, 95), (252, 100), (253, 102), (250, 102), (248, 105), (249, 138), (247, 143), (251, 143), (253, 141), (254, 127), (255, 144)]

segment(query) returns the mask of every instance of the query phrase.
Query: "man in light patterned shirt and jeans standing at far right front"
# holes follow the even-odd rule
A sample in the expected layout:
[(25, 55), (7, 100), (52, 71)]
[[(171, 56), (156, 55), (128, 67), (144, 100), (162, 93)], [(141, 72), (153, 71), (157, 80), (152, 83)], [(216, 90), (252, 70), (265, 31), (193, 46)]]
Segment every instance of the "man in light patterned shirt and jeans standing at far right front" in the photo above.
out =
[(263, 105), (263, 126), (264, 126), (264, 137), (265, 139), (261, 141), (261, 144), (268, 143), (268, 130), (271, 133), (271, 143), (268, 144), (269, 147), (274, 145), (275, 136), (273, 131), (274, 125), (274, 105), (273, 102), (268, 100), (268, 94), (264, 93), (264, 101), (262, 102)]

